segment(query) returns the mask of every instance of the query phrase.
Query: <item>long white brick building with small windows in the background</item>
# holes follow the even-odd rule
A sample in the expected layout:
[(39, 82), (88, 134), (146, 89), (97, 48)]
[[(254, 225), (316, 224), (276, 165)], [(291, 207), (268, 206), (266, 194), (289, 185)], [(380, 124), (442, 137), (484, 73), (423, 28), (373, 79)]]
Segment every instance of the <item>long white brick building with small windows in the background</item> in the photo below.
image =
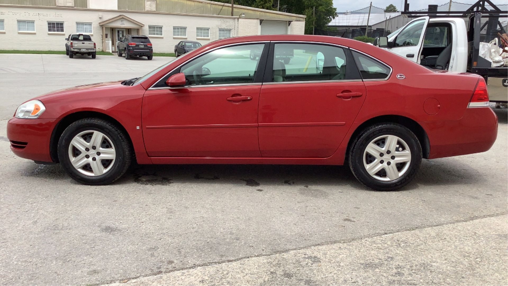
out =
[[(0, 41), (3, 43), (0, 49), (63, 50), (69, 34), (83, 33), (92, 36), (98, 50), (116, 51), (118, 37), (131, 34), (148, 36), (154, 52), (173, 52), (174, 46), (182, 40), (204, 45), (226, 37), (303, 34), (305, 26), (302, 15), (235, 6), (234, 15), (238, 15), (228, 16), (224, 14), (230, 13), (231, 5), (203, 0), (187, 0), (190, 4), (210, 8), (196, 11), (196, 14), (160, 11), (192, 10), (186, 3), (182, 4), (182, 0), (173, 0), (174, 3), (172, 0), (144, 0), (145, 11), (119, 9), (140, 0), (31, 1), (48, 6), (3, 4), (12, 0), (0, 0)], [(86, 8), (75, 4), (86, 5)], [(223, 8), (218, 12), (214, 10), (217, 4)]]

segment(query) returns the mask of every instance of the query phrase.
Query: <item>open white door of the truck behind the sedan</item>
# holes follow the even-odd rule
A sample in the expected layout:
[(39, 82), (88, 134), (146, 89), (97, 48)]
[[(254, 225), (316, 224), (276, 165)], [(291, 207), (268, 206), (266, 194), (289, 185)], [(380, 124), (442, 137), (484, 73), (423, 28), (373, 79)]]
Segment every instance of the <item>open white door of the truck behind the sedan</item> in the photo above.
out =
[(420, 53), (423, 46), (425, 29), (429, 23), (429, 17), (420, 17), (410, 21), (400, 31), (393, 41), (393, 47), (389, 50), (406, 59), (420, 63)]

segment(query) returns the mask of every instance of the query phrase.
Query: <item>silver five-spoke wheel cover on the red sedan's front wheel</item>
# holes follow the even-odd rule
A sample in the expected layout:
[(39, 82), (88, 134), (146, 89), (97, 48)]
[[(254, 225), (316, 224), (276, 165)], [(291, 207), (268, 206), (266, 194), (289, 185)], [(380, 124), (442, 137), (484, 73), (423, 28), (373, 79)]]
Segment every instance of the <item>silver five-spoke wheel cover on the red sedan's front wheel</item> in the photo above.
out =
[[(83, 135), (92, 134), (92, 138), (90, 142), (86, 142), (83, 139)], [(102, 148), (102, 142), (106, 140), (109, 143), (110, 148)], [(92, 149), (93, 146), (96, 146), (96, 149)], [(81, 154), (78, 156), (74, 156), (74, 148), (79, 150)], [(88, 151), (86, 151), (88, 148)], [(98, 155), (100, 153), (100, 155)], [(86, 155), (89, 158), (86, 158)], [(93, 158), (96, 158), (93, 161)], [(89, 176), (89, 177), (97, 177), (108, 173), (108, 171), (113, 167), (116, 159), (116, 151), (115, 146), (113, 145), (113, 141), (106, 136), (104, 133), (97, 130), (87, 130), (78, 133), (71, 140), (69, 144), (69, 159), (71, 160), (71, 165), (79, 171), (79, 173)], [(111, 163), (104, 167), (102, 165), (102, 160), (112, 160)], [(83, 167), (87, 164), (90, 164), (92, 171), (86, 170)]]

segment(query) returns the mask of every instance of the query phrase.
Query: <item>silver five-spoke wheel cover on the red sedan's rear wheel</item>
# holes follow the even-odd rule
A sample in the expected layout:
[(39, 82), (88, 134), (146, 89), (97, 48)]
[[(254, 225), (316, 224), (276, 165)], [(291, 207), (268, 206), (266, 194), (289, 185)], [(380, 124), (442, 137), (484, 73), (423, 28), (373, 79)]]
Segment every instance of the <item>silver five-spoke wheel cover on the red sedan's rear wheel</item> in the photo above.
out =
[[(379, 147), (375, 142), (385, 139), (383, 147)], [(400, 150), (400, 151), (399, 151)], [(387, 154), (390, 151), (390, 154)], [(374, 160), (367, 162), (367, 156), (371, 155)], [(383, 154), (383, 156), (380, 156)], [(395, 159), (392, 159), (395, 156)], [(367, 173), (374, 179), (384, 182), (397, 180), (402, 177), (411, 164), (411, 151), (407, 143), (395, 135), (382, 135), (374, 138), (367, 144), (363, 151), (363, 166)], [(381, 162), (383, 161), (383, 163)], [(388, 164), (390, 162), (390, 165)], [(397, 169), (397, 163), (401, 163), (400, 170)], [(380, 170), (385, 170), (386, 177), (377, 175)]]

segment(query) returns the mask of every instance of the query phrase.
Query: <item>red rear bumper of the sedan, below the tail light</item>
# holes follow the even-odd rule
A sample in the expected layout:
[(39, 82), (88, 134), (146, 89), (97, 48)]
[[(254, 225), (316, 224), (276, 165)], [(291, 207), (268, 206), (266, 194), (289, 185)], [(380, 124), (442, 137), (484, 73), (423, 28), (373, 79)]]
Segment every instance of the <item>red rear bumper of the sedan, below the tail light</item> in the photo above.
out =
[(497, 137), (497, 116), (490, 107), (466, 108), (456, 121), (419, 123), (429, 137), (429, 159), (485, 152)]

